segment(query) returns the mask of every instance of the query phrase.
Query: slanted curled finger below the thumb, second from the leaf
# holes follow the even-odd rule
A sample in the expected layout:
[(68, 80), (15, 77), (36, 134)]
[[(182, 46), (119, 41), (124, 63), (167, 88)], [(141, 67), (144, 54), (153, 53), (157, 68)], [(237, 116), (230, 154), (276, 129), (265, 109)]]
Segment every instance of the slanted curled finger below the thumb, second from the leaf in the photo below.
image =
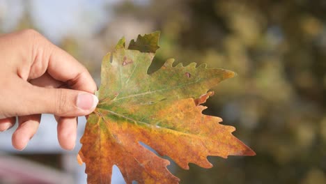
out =
[(13, 133), (12, 144), (17, 150), (23, 150), (38, 130), (40, 114), (18, 117), (18, 128)]

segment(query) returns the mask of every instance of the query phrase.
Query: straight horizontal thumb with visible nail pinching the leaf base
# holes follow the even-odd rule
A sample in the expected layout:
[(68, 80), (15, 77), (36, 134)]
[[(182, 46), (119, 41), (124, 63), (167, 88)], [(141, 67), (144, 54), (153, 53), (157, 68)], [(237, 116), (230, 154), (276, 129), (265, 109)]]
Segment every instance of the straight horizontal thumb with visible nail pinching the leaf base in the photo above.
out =
[(85, 116), (91, 114), (98, 105), (95, 95), (72, 89), (48, 89), (29, 85), (24, 94), (16, 108), (19, 116), (42, 113)]

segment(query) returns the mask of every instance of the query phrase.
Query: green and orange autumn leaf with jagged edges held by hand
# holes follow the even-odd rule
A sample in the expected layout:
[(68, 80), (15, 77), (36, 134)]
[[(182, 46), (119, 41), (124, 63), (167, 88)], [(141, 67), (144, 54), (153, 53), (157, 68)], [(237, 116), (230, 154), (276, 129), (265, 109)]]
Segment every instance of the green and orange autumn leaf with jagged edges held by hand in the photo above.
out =
[[(221, 118), (202, 114), (209, 91), (235, 74), (229, 70), (173, 66), (167, 60), (160, 70), (147, 70), (159, 48), (160, 32), (138, 36), (128, 49), (121, 39), (102, 61), (98, 107), (86, 123), (79, 163), (86, 163), (88, 183), (111, 183), (114, 164), (126, 183), (178, 183), (166, 169), (169, 156), (183, 169), (189, 162), (210, 168), (208, 155), (254, 155), (221, 125)], [(208, 92), (209, 91), (209, 92)]]

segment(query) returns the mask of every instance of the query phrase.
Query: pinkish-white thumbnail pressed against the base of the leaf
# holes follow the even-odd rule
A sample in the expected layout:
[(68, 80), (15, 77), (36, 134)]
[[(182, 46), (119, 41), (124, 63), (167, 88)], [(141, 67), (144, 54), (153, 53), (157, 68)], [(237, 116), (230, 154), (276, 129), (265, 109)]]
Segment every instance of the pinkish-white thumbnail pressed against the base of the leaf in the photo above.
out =
[(95, 109), (96, 105), (98, 105), (98, 97), (91, 93), (81, 93), (77, 96), (76, 105), (79, 109)]

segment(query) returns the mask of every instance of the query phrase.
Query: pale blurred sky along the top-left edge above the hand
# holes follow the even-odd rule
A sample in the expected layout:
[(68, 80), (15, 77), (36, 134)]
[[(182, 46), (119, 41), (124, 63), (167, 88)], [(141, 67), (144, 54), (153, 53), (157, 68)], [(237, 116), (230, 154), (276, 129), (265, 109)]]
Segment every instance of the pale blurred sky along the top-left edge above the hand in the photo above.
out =
[[(15, 29), (29, 10), (36, 29), (58, 43), (67, 36), (93, 35), (112, 18), (112, 6), (118, 0), (0, 0), (0, 22), (3, 32)], [(29, 7), (29, 8), (26, 8)]]

